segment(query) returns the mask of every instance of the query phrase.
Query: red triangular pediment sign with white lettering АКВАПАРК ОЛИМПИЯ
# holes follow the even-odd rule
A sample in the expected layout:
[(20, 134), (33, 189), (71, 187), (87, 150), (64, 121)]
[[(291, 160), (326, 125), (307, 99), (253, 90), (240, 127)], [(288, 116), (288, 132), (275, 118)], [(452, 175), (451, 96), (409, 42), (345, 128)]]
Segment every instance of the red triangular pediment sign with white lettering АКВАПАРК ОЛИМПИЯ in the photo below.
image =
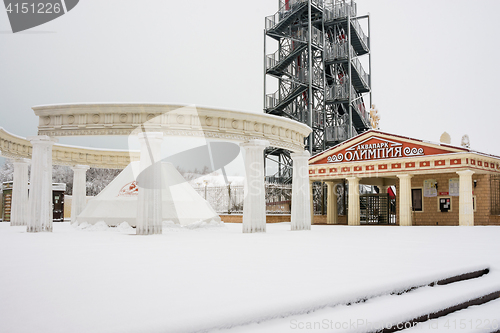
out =
[(373, 136), (353, 146), (333, 153), (326, 158), (326, 163), (370, 161), (444, 153), (449, 153), (449, 151)]

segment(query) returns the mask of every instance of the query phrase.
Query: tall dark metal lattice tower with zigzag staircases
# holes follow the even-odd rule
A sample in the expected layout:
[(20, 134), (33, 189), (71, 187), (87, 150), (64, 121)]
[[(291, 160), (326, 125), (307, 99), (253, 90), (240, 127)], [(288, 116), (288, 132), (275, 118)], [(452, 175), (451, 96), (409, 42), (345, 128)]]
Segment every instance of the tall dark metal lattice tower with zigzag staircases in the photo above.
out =
[[(361, 27), (367, 20), (368, 36)], [(309, 125), (306, 149), (319, 153), (371, 128), (364, 95), (370, 94), (370, 72), (360, 56), (370, 59), (370, 18), (357, 16), (354, 1), (279, 0), (276, 14), (266, 17), (264, 31), (264, 110)], [(268, 54), (268, 38), (277, 50)], [(268, 79), (278, 90), (267, 93)], [(290, 182), (289, 152), (266, 151), (278, 164), (268, 179)]]

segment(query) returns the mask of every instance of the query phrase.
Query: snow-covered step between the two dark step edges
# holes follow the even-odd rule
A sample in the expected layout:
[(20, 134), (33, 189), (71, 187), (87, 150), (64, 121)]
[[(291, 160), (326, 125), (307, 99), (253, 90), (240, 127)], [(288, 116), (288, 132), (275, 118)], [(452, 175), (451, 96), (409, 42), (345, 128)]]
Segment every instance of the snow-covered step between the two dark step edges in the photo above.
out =
[[(466, 275), (465, 275), (466, 277)], [(400, 323), (440, 313), (456, 305), (500, 295), (500, 272), (445, 285), (425, 286), (400, 295), (374, 297), (363, 303), (326, 307), (308, 314), (235, 327), (231, 332), (390, 332)], [(446, 313), (445, 313), (446, 314)], [(425, 318), (427, 319), (427, 318)], [(404, 326), (401, 326), (404, 328)], [(451, 330), (450, 332), (452, 332)]]

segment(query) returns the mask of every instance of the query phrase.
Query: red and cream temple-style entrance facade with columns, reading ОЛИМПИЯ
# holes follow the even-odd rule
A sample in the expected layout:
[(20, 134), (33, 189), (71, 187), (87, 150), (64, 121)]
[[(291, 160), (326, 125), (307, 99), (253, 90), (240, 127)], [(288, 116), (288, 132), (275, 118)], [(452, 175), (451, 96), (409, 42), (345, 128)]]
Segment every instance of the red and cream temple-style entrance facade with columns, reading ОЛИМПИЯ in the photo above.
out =
[[(457, 224), (474, 225), (473, 197), (478, 179), (483, 180), (486, 188), (488, 177), (500, 174), (500, 157), (478, 153), (463, 147), (431, 143), (422, 140), (370, 130), (348, 141), (326, 150), (309, 160), (310, 182), (322, 181), (329, 186), (327, 212), (328, 223), (337, 223), (336, 206), (333, 205), (335, 193), (333, 184), (346, 180), (349, 184), (348, 224), (360, 222), (358, 184), (376, 185), (386, 189), (396, 186), (398, 196), (399, 225), (415, 225), (415, 212), (412, 210), (412, 188), (423, 186), (424, 179), (442, 178), (439, 196), (449, 195), (447, 181), (457, 180)], [(474, 176), (474, 180), (473, 180)], [(477, 178), (477, 179), (476, 179)], [(428, 183), (428, 182), (427, 182)], [(437, 186), (437, 181), (436, 181)], [(443, 190), (441, 192), (441, 190)], [(330, 193), (331, 192), (331, 193)], [(434, 201), (427, 200), (426, 213), (434, 213)], [(437, 213), (437, 210), (436, 210)], [(426, 216), (418, 215), (418, 218)], [(431, 216), (431, 215), (429, 215)], [(444, 216), (444, 215), (443, 215)], [(430, 218), (430, 217), (429, 217)], [(432, 217), (439, 220), (439, 214)], [(423, 224), (424, 221), (422, 221)], [(439, 222), (436, 222), (439, 223)], [(427, 223), (431, 224), (431, 223)]]

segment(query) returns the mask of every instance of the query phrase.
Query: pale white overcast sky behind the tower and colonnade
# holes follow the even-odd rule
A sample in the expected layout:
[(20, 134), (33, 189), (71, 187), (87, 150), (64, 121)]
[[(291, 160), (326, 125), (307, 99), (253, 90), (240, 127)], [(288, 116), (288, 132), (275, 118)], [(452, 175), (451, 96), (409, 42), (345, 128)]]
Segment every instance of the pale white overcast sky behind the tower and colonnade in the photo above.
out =
[[(360, 0), (370, 13), (381, 130), (500, 155), (500, 1)], [(262, 112), (263, 29), (278, 0), (81, 0), (12, 34), (0, 10), (0, 126), (36, 134), (31, 107), (159, 102)], [(274, 50), (268, 49), (268, 53)], [(271, 93), (273, 91), (268, 91)], [(63, 143), (125, 148), (126, 139)]]

